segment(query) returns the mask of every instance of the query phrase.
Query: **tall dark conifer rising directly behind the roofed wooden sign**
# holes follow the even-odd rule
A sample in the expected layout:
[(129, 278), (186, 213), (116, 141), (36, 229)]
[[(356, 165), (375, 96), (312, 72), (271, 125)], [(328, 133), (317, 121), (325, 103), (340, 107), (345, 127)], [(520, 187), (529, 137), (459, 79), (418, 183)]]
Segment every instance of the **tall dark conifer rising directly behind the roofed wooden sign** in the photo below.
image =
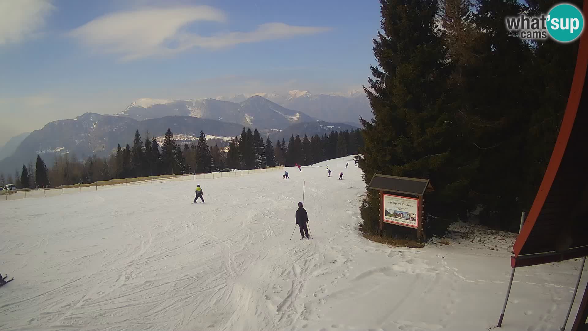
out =
[[(456, 123), (443, 108), (449, 68), (435, 27), (437, 1), (380, 3), (382, 32), (373, 40), (379, 65), (371, 67), (370, 90), (365, 89), (374, 117), (371, 122), (360, 118), (365, 137), (365, 146), (359, 151), (363, 179), (369, 183), (376, 172), (430, 178), (438, 185), (436, 193), (445, 199), (428, 198), (427, 211), (436, 215), (447, 210), (451, 213), (459, 200), (447, 199), (456, 195), (445, 188), (451, 187), (455, 193), (463, 185), (447, 171), (453, 158), (457, 161), (450, 154), (450, 143), (455, 139), (451, 137), (452, 131), (455, 137), (452, 125)], [(377, 231), (379, 197), (373, 190), (366, 195), (360, 207), (362, 229)]]

